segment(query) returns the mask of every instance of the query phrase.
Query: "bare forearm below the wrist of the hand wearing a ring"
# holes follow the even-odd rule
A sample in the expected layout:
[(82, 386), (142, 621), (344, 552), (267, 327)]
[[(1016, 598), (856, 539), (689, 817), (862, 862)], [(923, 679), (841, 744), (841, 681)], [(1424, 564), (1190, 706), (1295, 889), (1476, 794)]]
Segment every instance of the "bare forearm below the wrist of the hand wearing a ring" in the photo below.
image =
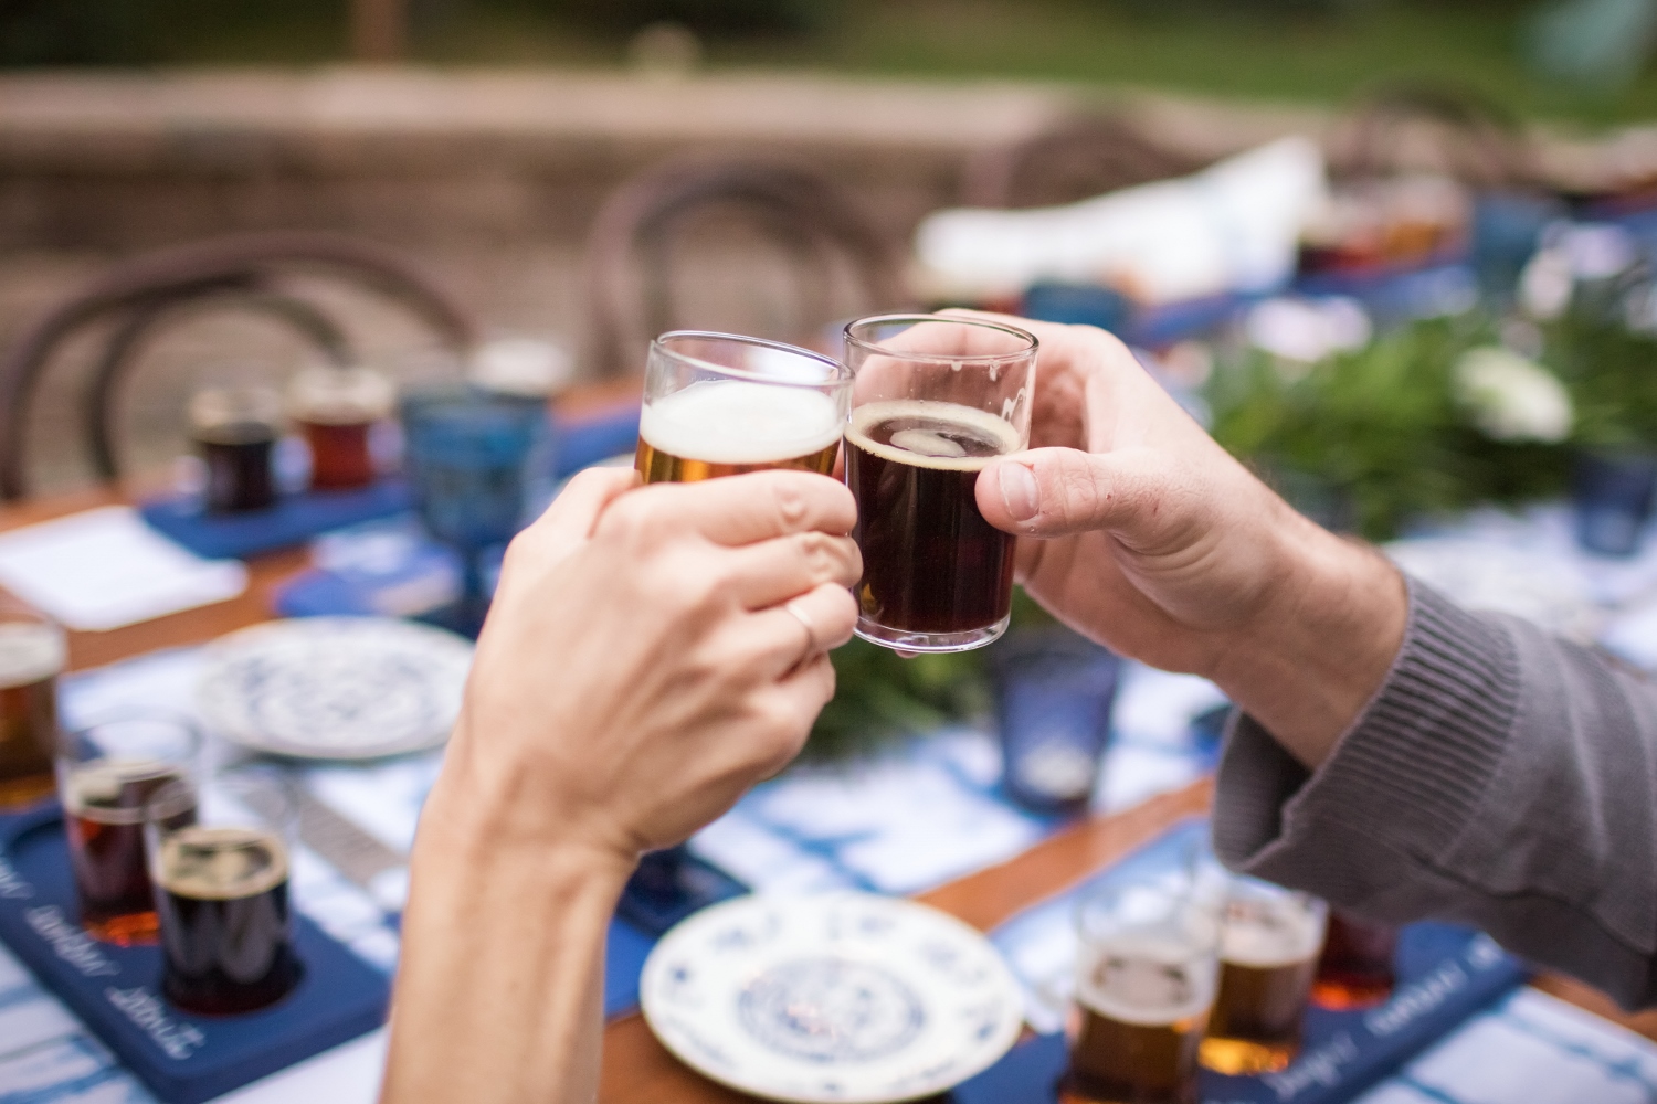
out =
[(605, 932), (626, 872), (548, 841), (421, 823), (383, 1104), (585, 1104), (598, 1091)]

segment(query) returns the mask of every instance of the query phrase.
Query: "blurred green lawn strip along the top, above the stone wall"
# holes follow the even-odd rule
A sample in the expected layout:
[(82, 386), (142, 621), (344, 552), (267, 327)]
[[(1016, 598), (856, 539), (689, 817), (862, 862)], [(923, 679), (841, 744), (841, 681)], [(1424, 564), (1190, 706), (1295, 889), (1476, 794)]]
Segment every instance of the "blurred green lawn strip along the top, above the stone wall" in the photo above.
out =
[[(80, 7), (119, 2), (80, 0)], [(416, 0), (423, 18), (413, 55), (439, 65), (618, 65), (625, 33), (560, 15), (560, 3), (570, 2)], [(346, 0), (149, 0), (144, 31), (128, 40), (126, 56), (96, 36), (81, 53), (93, 61), (156, 63), (340, 60), (345, 7)], [(1518, 0), (1347, 0), (1334, 12), (1291, 0), (838, 0), (815, 33), (714, 36), (708, 63), (1130, 84), (1326, 104), (1380, 79), (1437, 78), (1529, 118), (1589, 124), (1657, 118), (1652, 71), (1612, 96), (1533, 79), (1516, 46), (1528, 10)], [(0, 38), (0, 56), (3, 45)]]

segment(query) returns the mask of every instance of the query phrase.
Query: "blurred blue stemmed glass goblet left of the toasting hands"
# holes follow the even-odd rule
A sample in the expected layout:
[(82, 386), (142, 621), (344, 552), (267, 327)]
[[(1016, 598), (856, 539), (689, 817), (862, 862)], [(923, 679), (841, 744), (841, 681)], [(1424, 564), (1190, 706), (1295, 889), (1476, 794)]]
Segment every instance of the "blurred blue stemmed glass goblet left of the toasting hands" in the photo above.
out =
[(428, 619), (476, 637), (489, 611), (484, 554), (522, 528), (529, 467), (548, 434), (545, 407), (441, 384), (404, 394), (401, 415), (414, 510), (461, 558), (461, 598)]

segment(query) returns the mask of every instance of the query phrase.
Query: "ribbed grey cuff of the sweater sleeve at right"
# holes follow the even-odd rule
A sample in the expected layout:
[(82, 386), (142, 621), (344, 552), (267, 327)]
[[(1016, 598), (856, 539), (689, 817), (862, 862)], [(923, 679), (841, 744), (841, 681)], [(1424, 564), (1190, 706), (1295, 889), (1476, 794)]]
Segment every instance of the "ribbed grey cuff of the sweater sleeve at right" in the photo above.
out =
[[(1408, 591), (1392, 670), (1316, 773), (1251, 717), (1233, 718), (1213, 818), (1215, 851), (1228, 866), (1322, 881), (1314, 874), (1331, 874), (1321, 854), (1331, 831), (1412, 856), (1442, 852), (1461, 834), (1513, 727), (1518, 659), (1500, 624), (1413, 579)], [(1347, 869), (1342, 881), (1362, 874)], [(1362, 894), (1357, 884), (1344, 889)]]

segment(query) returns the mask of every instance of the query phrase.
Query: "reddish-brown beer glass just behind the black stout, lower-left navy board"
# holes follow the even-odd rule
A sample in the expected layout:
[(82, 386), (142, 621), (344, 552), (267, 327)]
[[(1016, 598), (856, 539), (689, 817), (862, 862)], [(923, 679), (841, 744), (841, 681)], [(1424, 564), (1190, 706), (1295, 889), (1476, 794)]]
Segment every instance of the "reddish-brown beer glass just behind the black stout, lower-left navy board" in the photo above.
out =
[(156, 942), (156, 900), (144, 864), (144, 804), (196, 775), (200, 737), (179, 717), (123, 715), (63, 737), (58, 796), (81, 927), (119, 943)]

